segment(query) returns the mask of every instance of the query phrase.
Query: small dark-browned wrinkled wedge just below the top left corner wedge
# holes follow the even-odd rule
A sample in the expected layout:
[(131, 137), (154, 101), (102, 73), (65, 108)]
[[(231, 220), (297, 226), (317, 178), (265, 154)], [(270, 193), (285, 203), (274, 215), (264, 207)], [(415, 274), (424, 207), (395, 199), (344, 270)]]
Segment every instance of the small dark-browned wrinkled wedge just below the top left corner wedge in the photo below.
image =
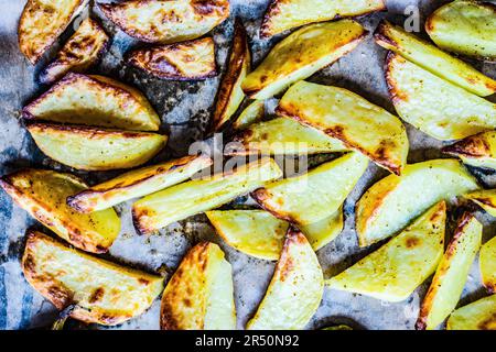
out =
[(40, 74), (40, 81), (48, 85), (68, 72), (83, 73), (100, 58), (108, 41), (108, 35), (101, 26), (87, 18), (64, 44), (55, 59)]

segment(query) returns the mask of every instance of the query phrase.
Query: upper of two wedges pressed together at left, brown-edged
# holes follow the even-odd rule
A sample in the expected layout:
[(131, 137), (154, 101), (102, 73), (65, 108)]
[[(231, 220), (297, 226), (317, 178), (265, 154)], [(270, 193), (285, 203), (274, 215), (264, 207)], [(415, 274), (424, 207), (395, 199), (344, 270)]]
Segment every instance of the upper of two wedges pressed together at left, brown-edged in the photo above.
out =
[(137, 89), (104, 76), (67, 74), (24, 107), (29, 120), (157, 131), (160, 118)]

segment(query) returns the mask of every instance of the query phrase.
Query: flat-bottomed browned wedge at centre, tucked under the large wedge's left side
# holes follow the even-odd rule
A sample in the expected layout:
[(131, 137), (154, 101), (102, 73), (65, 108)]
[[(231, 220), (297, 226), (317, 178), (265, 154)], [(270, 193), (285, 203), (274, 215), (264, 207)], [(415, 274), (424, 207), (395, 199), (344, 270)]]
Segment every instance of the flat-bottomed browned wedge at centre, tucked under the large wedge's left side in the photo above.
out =
[(226, 155), (299, 155), (346, 151), (339, 140), (288, 118), (251, 124), (237, 133), (233, 142), (231, 148), (226, 146)]

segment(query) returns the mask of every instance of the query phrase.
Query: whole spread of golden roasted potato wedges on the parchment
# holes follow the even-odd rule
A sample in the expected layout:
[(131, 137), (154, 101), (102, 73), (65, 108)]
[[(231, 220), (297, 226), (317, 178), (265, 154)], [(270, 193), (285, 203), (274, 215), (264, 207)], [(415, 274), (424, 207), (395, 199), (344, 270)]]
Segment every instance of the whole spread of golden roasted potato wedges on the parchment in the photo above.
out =
[[(29, 0), (19, 24), (26, 58), (36, 63), (85, 6)], [(98, 8), (123, 32), (152, 45), (129, 53), (129, 65), (170, 80), (217, 75), (207, 33), (229, 16), (227, 0), (128, 0)], [(382, 0), (272, 0), (260, 36), (293, 31), (255, 68), (247, 31), (236, 20), (208, 132), (228, 131), (230, 145), (240, 146), (226, 147), (226, 158), (257, 157), (212, 177), (194, 177), (213, 165), (207, 155), (143, 166), (166, 144), (158, 132), (160, 117), (136, 88), (85, 74), (109, 42), (96, 20), (86, 19), (42, 72), (40, 80), (53, 86), (24, 107), (23, 121), (39, 148), (63, 165), (130, 170), (94, 186), (35, 168), (1, 177), (4, 191), (63, 240), (28, 232), (22, 257), (28, 282), (84, 322), (122, 323), (162, 294), (162, 329), (236, 329), (233, 270), (219, 245), (194, 245), (165, 287), (159, 275), (94, 255), (106, 253), (119, 235), (112, 207), (140, 198), (132, 205), (140, 234), (205, 213), (226, 245), (277, 261), (246, 329), (304, 329), (325, 287), (402, 301), (432, 275), (417, 329), (435, 329), (446, 319), (448, 329), (496, 329), (496, 295), (456, 309), (478, 252), (482, 283), (496, 293), (496, 238), (481, 245), (483, 226), (470, 211), (446, 237), (449, 204), (472, 201), (496, 217), (496, 190), (481, 187), (464, 166), (496, 169), (496, 105), (484, 98), (496, 92), (496, 80), (449, 54), (494, 59), (496, 9), (470, 0), (443, 6), (425, 26), (435, 45), (379, 23), (374, 40), (389, 51), (385, 78), (398, 116), (351, 90), (305, 81), (367, 37), (349, 18), (385, 9)], [(467, 21), (455, 25), (461, 13)], [(274, 96), (277, 117), (267, 119), (263, 101)], [(443, 152), (460, 161), (409, 164), (402, 121), (434, 139), (457, 140)], [(335, 157), (292, 177), (274, 161), (324, 153)], [(355, 229), (359, 246), (381, 245), (324, 278), (315, 252), (343, 231), (344, 204), (370, 161), (389, 174), (357, 201)], [(246, 194), (257, 207), (218, 209)], [(451, 238), (446, 245), (445, 238)]]

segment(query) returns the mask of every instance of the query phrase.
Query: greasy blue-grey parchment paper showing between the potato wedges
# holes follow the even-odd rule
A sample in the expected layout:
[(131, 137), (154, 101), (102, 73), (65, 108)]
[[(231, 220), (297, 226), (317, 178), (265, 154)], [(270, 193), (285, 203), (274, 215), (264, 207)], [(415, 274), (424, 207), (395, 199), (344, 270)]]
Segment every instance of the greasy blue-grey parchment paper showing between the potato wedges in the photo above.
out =
[[(309, 0), (310, 1), (310, 0)], [(101, 2), (108, 2), (103, 1)], [(217, 44), (217, 63), (224, 66), (233, 32), (233, 20), (240, 16), (247, 26), (254, 63), (257, 65), (268, 50), (280, 40), (260, 41), (258, 29), (268, 0), (230, 0), (231, 16), (213, 31)], [(402, 14), (408, 6), (420, 9), (421, 23), (433, 9), (446, 1), (435, 0), (388, 0), (388, 12), (360, 18), (359, 21), (370, 33), (381, 18), (389, 18), (402, 23)], [(69, 170), (84, 177), (90, 184), (108, 179), (118, 173), (80, 173), (71, 170), (45, 157), (23, 129), (19, 120), (20, 109), (35, 96), (46, 90), (36, 84), (40, 69), (50, 58), (35, 67), (31, 66), (18, 48), (17, 26), (25, 1), (0, 0), (0, 174), (7, 174), (25, 166)], [(211, 117), (213, 101), (218, 86), (218, 77), (200, 82), (177, 82), (160, 80), (128, 67), (122, 62), (122, 54), (138, 43), (117, 30), (105, 20), (98, 11), (91, 15), (99, 18), (112, 35), (112, 44), (101, 63), (91, 70), (109, 75), (140, 88), (150, 99), (162, 118), (163, 131), (170, 133), (170, 142), (164, 152), (154, 161), (181, 156), (187, 153), (190, 143), (204, 138), (204, 129)], [(63, 35), (71, 34), (72, 29)], [(422, 34), (424, 35), (424, 34)], [(56, 46), (52, 52), (56, 50)], [(53, 53), (52, 53), (53, 54)], [(327, 67), (310, 80), (348, 88), (370, 101), (393, 112), (382, 74), (385, 51), (377, 46), (371, 36), (355, 51), (337, 63)], [(492, 77), (496, 77), (496, 65), (474, 63)], [(494, 97), (493, 97), (494, 98)], [(274, 101), (268, 103), (274, 106)], [(270, 109), (269, 109), (270, 110)], [(408, 127), (411, 150), (409, 162), (440, 157), (441, 142)], [(496, 184), (493, 175), (472, 168), (471, 170), (487, 186)], [(359, 180), (357, 187), (345, 202), (346, 224), (343, 233), (332, 243), (319, 251), (319, 260), (325, 277), (348, 267), (360, 257), (376, 249), (359, 249), (354, 232), (354, 205), (359, 196), (374, 182), (387, 173), (373, 163)], [(122, 218), (121, 234), (110, 249), (108, 257), (128, 263), (150, 272), (172, 273), (185, 251), (201, 240), (219, 243), (233, 264), (235, 298), (238, 312), (238, 328), (255, 312), (267, 285), (274, 264), (247, 256), (215, 235), (205, 216), (188, 218), (160, 231), (149, 238), (138, 235), (131, 223), (130, 202), (117, 207)], [(484, 241), (495, 231), (495, 223), (487, 215), (477, 211), (477, 218), (485, 224)], [(453, 223), (453, 217), (451, 223)], [(22, 276), (19, 260), (22, 255), (24, 233), (29, 227), (43, 229), (25, 211), (12, 204), (0, 191), (0, 329), (29, 329), (45, 327), (57, 317), (54, 307), (34, 292)], [(47, 231), (47, 230), (45, 230)], [(310, 329), (327, 324), (348, 323), (355, 328), (366, 329), (412, 329), (417, 319), (419, 302), (427, 289), (427, 284), (419, 287), (406, 301), (399, 304), (382, 302), (360, 295), (325, 289), (324, 298)], [(471, 271), (461, 305), (465, 305), (485, 295), (481, 287), (477, 262)], [(158, 329), (160, 300), (142, 316), (115, 329)], [(101, 328), (91, 326), (90, 328)], [(114, 329), (114, 328), (112, 328)]]

